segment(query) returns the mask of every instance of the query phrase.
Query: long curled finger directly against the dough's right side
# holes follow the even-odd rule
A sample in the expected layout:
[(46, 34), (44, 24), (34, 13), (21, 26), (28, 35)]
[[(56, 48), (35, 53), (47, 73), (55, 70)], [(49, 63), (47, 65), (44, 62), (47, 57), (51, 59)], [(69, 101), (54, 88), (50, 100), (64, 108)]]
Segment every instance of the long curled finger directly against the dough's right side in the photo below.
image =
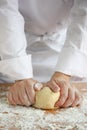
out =
[(68, 97), (68, 84), (64, 81), (58, 83), (60, 87), (60, 98), (55, 104), (56, 107), (61, 107)]

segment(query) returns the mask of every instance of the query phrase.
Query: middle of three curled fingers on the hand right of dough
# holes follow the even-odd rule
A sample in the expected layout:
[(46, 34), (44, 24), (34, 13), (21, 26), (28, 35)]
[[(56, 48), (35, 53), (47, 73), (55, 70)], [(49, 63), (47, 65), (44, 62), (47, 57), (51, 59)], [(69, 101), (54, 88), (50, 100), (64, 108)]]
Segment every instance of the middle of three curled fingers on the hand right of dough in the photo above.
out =
[(62, 105), (62, 107), (69, 107), (75, 100), (75, 89), (74, 88), (69, 88), (68, 89), (68, 98), (66, 99), (65, 103)]

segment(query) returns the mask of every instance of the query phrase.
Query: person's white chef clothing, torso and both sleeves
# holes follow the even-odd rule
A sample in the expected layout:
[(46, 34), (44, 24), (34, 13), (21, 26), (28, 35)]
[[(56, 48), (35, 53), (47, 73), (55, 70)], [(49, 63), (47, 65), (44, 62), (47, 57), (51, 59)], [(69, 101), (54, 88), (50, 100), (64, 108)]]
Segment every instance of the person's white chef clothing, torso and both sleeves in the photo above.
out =
[(86, 37), (87, 0), (0, 0), (1, 81), (86, 78)]

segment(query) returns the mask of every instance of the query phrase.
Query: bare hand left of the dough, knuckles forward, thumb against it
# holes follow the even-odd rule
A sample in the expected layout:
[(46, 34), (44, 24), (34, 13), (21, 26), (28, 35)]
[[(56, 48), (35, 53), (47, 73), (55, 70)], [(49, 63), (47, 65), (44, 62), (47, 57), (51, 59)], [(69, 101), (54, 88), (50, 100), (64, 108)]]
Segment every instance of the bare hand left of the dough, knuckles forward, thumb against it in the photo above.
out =
[[(40, 90), (41, 86), (35, 86), (37, 81), (33, 79), (26, 79), (17, 81), (10, 87), (8, 93), (8, 101), (12, 105), (30, 106), (35, 103), (35, 91)], [(37, 84), (39, 85), (39, 84)], [(35, 87), (34, 87), (35, 86)]]

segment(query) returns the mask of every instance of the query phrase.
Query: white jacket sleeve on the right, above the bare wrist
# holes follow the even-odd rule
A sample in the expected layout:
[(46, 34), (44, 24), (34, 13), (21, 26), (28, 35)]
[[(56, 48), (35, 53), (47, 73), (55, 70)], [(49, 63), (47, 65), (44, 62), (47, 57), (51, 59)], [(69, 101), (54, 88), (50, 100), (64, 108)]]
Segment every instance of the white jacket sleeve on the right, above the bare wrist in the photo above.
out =
[(56, 71), (87, 77), (87, 0), (74, 0), (72, 22), (67, 31)]

